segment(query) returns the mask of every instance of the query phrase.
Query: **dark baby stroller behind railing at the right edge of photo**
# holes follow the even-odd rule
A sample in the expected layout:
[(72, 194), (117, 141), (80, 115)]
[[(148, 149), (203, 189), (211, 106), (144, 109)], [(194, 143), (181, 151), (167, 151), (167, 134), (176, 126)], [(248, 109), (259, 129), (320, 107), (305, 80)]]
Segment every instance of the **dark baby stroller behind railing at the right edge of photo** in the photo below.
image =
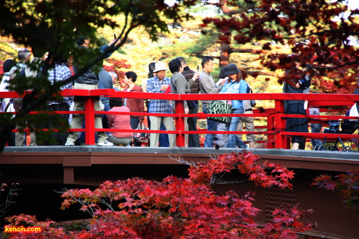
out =
[[(349, 111), (345, 115), (349, 116)], [(342, 121), (331, 120), (328, 123), (329, 123), (329, 128), (325, 128), (323, 130), (323, 133), (353, 134), (359, 126), (358, 121), (350, 121), (350, 120), (342, 120)], [(342, 141), (341, 137), (337, 137), (336, 141), (326, 141), (326, 139), (327, 139), (327, 137), (324, 137), (322, 145), (316, 145), (314, 150), (339, 151), (337, 145), (338, 145), (338, 143), (341, 143), (343, 146), (342, 151), (344, 151), (344, 152), (352, 152), (353, 151), (353, 149), (350, 146), (344, 145), (344, 142)], [(334, 143), (334, 145), (329, 145), (327, 148), (325, 148), (324, 143)], [(357, 144), (357, 142), (354, 142), (354, 143), (355, 143), (356, 147), (359, 148), (359, 145)]]

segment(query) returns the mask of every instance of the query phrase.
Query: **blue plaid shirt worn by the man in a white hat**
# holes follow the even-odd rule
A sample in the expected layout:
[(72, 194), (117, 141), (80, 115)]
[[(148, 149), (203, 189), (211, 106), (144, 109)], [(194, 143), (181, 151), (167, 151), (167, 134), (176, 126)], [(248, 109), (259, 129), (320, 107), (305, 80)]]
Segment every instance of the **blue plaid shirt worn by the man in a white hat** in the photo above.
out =
[[(164, 93), (165, 90), (161, 91), (162, 85), (169, 86), (171, 79), (164, 77), (162, 81), (159, 81), (157, 76), (149, 78), (147, 81), (147, 92), (150, 93)], [(163, 113), (163, 114), (172, 114), (171, 105), (168, 100), (164, 99), (151, 99), (148, 109), (148, 113)]]

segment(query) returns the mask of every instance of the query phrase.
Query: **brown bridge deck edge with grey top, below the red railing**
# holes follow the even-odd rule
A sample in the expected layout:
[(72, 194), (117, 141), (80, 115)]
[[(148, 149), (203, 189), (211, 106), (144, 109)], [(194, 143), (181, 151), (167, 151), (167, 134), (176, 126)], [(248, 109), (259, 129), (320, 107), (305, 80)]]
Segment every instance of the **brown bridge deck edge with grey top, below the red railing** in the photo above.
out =
[[(237, 149), (241, 151), (242, 149)], [(101, 165), (182, 165), (175, 159), (187, 162), (206, 161), (210, 156), (230, 153), (233, 149), (209, 148), (151, 148), (151, 147), (100, 147), (100, 146), (36, 146), (7, 147), (0, 155), (1, 168), (19, 165), (61, 167), (63, 178), (58, 183), (76, 184), (75, 168)], [(282, 163), (287, 168), (345, 172), (359, 167), (359, 153), (341, 151), (310, 151), (286, 149), (255, 149), (262, 161)], [(136, 174), (135, 171), (124, 176)], [(19, 175), (20, 176), (20, 175)], [(141, 176), (141, 175), (139, 175)], [(1, 178), (1, 177), (0, 177)], [(19, 178), (17, 178), (19, 180)], [(29, 178), (27, 178), (29, 180)], [(98, 185), (106, 178), (98, 178)], [(81, 180), (82, 184), (87, 184)], [(89, 183), (93, 185), (93, 182)]]

